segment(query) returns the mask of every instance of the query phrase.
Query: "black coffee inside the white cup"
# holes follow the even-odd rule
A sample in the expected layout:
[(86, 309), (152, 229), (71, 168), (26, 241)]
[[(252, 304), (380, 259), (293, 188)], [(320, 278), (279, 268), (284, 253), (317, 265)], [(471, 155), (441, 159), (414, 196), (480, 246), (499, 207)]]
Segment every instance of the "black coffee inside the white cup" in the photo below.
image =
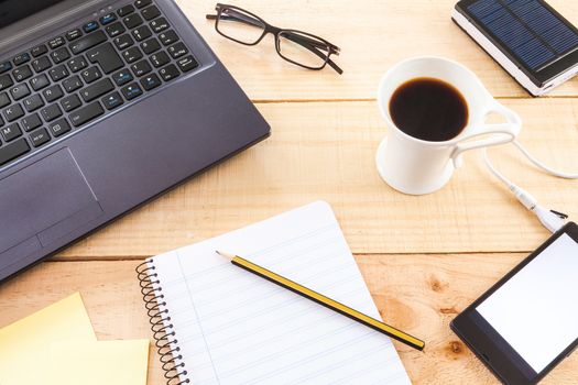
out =
[(454, 86), (434, 78), (416, 78), (395, 90), (390, 101), (395, 125), (416, 139), (449, 141), (468, 124), (468, 103)]

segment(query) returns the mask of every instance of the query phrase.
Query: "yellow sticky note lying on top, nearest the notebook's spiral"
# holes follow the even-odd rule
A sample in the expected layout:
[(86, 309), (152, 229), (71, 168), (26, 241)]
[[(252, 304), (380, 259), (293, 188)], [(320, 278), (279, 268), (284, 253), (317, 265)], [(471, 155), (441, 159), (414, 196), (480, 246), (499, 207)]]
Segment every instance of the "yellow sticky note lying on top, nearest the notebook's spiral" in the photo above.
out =
[(149, 340), (56, 342), (50, 362), (46, 385), (145, 385)]

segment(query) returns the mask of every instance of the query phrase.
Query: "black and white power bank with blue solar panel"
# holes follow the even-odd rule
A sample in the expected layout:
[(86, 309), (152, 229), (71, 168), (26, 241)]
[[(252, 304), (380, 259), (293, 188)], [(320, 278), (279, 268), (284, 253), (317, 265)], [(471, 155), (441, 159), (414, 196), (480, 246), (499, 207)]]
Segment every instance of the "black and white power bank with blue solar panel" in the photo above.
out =
[(578, 30), (544, 0), (461, 0), (451, 19), (533, 96), (578, 73)]

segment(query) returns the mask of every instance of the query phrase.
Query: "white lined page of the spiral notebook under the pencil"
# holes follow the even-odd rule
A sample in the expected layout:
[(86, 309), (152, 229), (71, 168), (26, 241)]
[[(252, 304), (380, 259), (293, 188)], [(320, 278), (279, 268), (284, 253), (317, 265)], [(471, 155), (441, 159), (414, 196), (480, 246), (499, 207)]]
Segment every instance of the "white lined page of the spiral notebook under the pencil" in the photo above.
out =
[(236, 267), (215, 250), (381, 319), (326, 202), (155, 256), (179, 362), (193, 384), (410, 384), (386, 336)]

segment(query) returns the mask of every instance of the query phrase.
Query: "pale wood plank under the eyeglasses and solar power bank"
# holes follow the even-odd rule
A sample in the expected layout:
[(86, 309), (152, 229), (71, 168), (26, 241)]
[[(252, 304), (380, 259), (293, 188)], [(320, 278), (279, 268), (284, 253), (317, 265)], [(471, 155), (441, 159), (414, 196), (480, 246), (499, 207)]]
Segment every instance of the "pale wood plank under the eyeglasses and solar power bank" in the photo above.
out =
[[(382, 75), (395, 63), (423, 55), (444, 56), (470, 67), (492, 95), (527, 97), (498, 64), (450, 19), (456, 0), (252, 0), (237, 3), (268, 22), (307, 31), (341, 47), (328, 68), (312, 72), (277, 56), (271, 36), (247, 47), (220, 36), (205, 14), (214, 0), (177, 0), (186, 15), (253, 100), (374, 99)], [(549, 1), (578, 24), (578, 2)], [(323, 16), (321, 16), (323, 15)], [(577, 96), (578, 79), (552, 95)]]

